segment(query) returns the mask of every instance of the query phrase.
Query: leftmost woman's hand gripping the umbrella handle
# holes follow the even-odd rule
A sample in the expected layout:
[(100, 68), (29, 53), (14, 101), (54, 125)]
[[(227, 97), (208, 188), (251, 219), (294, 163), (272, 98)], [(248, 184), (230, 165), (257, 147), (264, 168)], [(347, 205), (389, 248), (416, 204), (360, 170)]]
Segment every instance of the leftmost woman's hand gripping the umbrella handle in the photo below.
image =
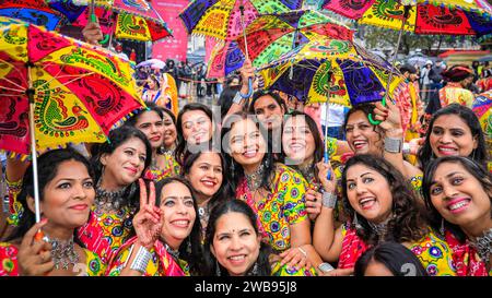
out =
[(35, 224), (22, 238), (17, 252), (19, 273), (27, 276), (43, 276), (55, 267), (51, 260), (51, 245), (35, 240), (36, 233), (48, 223), (47, 218)]

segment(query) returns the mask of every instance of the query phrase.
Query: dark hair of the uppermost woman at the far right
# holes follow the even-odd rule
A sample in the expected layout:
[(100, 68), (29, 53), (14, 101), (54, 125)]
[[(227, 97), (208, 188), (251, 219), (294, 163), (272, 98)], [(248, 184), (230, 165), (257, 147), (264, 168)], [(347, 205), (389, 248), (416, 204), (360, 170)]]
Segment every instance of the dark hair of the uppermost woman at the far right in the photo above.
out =
[(431, 147), (431, 134), (432, 130), (434, 128), (435, 120), (444, 115), (456, 115), (470, 128), (471, 135), (477, 139), (478, 145), (477, 148), (475, 148), (470, 156), (479, 163), (480, 165), (487, 167), (488, 163), (488, 154), (487, 154), (487, 144), (485, 139), (483, 135), (482, 128), (480, 126), (480, 121), (477, 118), (477, 115), (468, 107), (458, 105), (458, 104), (452, 104), (449, 106), (446, 106), (438, 111), (436, 111), (429, 122), (427, 132), (425, 134), (425, 142), (423, 146), (419, 150), (418, 158), (419, 163), (422, 167), (425, 165), (429, 165), (432, 159), (435, 158), (435, 154), (432, 151)]

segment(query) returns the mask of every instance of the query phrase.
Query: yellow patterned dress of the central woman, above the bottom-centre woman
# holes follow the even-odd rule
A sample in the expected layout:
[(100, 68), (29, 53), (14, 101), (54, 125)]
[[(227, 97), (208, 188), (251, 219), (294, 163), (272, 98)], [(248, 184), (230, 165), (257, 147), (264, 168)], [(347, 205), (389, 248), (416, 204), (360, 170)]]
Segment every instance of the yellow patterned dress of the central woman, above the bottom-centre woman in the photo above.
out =
[(291, 247), (290, 225), (307, 220), (306, 181), (292, 168), (277, 164), (267, 198), (255, 202), (246, 178), (236, 189), (236, 199), (245, 201), (256, 213), (263, 240), (277, 251)]

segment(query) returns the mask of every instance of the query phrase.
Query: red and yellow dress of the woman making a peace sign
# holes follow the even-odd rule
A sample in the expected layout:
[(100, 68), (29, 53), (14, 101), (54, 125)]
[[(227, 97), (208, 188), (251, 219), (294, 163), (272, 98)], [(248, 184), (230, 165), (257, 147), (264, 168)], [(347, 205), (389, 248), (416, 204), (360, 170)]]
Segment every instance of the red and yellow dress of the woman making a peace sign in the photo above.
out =
[[(130, 258), (130, 248), (137, 241), (137, 237), (130, 239), (120, 250), (115, 254), (115, 259), (110, 262), (106, 274), (109, 276), (119, 276), (121, 271)], [(161, 241), (156, 241), (154, 247), (150, 250), (152, 260), (147, 265), (144, 276), (189, 276), (188, 263), (184, 260), (174, 260), (166, 251)], [(130, 264), (127, 264), (129, 266)]]

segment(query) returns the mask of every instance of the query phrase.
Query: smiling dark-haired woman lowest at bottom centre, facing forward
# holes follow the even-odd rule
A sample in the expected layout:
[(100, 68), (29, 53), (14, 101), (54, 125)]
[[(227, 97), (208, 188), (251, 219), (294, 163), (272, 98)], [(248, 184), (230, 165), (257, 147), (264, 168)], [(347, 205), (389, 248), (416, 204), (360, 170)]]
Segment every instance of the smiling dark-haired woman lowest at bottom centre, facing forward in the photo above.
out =
[(210, 214), (204, 242), (206, 275), (312, 276), (313, 270), (281, 266), (261, 241), (254, 211), (243, 201), (226, 200)]

